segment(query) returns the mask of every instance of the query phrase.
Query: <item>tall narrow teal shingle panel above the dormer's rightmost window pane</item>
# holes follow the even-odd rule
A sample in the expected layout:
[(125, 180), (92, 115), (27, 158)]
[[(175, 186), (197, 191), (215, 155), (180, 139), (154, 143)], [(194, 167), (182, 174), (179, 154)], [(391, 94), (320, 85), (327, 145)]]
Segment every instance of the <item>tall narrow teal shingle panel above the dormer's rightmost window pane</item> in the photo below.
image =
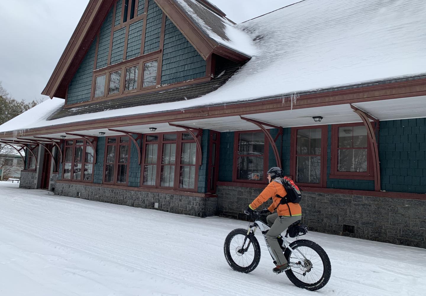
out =
[(163, 11), (154, 0), (148, 2), (147, 28), (145, 32), (144, 54), (160, 48), (161, 18)]

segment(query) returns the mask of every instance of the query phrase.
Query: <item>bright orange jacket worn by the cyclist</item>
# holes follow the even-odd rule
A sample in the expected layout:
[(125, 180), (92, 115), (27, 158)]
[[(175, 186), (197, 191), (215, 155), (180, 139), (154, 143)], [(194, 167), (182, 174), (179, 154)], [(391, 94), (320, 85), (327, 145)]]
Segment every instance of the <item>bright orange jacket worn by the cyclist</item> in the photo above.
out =
[[(254, 210), (262, 203), (268, 200), (268, 198), (272, 197), (273, 203), (271, 206), (268, 207), (269, 212), (273, 212), (275, 208), (276, 212), (279, 216), (290, 216), (290, 211), (292, 216), (300, 216), (302, 215), (302, 208), (298, 203), (288, 203), (288, 204), (279, 204), (281, 201), (281, 198), (276, 197), (275, 195), (278, 194), (279, 196), (284, 197), (287, 195), (287, 192), (285, 192), (284, 186), (282, 186), (282, 183), (279, 180), (273, 180), (271, 183), (266, 186), (265, 189), (263, 189), (262, 193), (259, 194), (258, 197), (256, 197), (255, 200), (253, 200), (252, 203), (250, 203), (250, 209)], [(288, 206), (287, 206), (288, 205)], [(290, 211), (288, 210), (290, 208)]]

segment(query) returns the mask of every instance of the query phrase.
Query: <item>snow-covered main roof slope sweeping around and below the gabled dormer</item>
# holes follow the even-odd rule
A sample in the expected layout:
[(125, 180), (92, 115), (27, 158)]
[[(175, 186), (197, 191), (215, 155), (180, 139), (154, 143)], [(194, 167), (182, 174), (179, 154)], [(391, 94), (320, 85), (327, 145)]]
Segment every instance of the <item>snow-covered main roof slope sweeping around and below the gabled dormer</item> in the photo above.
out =
[(181, 102), (47, 121), (63, 104), (54, 99), (1, 125), (0, 132), (422, 75), (426, 73), (425, 15), (423, 0), (304, 0), (229, 25), (239, 34), (248, 34), (256, 52), (218, 90)]

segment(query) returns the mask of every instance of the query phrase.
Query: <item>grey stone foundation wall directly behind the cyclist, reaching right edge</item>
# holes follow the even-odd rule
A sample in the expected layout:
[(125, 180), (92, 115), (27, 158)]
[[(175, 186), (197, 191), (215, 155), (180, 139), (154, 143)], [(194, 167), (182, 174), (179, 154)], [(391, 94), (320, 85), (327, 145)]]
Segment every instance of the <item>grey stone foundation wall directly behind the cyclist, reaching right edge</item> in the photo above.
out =
[[(218, 215), (245, 219), (242, 212), (260, 192), (218, 186)], [(426, 248), (426, 200), (302, 192), (301, 206), (312, 231)]]

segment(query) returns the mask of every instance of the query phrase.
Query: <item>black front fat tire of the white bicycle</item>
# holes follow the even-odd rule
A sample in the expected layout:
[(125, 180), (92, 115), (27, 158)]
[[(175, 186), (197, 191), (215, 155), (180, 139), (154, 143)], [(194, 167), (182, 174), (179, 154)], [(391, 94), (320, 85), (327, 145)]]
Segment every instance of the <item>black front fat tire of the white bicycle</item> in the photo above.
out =
[(225, 253), (226, 261), (228, 262), (229, 266), (233, 270), (239, 271), (240, 273), (252, 272), (257, 267), (257, 265), (259, 264), (259, 261), (260, 261), (259, 242), (257, 241), (256, 237), (251, 232), (248, 235), (247, 239), (249, 239), (251, 241), (251, 244), (253, 245), (253, 248), (254, 248), (253, 262), (247, 267), (242, 267), (242, 266), (239, 266), (238, 264), (236, 264), (233, 261), (231, 253), (230, 253), (231, 252), (231, 250), (230, 250), (231, 240), (235, 235), (246, 235), (246, 234), (247, 234), (247, 229), (243, 229), (243, 228), (234, 229), (233, 231), (229, 232), (229, 234), (225, 238), (225, 243), (223, 244), (223, 252)]

